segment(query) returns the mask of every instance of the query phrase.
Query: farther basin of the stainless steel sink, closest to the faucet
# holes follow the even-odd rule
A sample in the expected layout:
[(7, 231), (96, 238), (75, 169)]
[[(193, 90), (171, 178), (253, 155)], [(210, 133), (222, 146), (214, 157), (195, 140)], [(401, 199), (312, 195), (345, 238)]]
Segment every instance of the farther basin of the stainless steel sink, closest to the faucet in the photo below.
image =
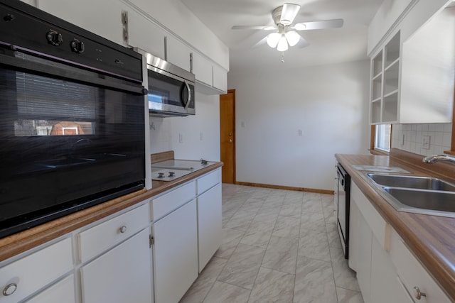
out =
[(389, 187), (406, 187), (455, 192), (455, 185), (435, 177), (367, 174), (371, 180)]

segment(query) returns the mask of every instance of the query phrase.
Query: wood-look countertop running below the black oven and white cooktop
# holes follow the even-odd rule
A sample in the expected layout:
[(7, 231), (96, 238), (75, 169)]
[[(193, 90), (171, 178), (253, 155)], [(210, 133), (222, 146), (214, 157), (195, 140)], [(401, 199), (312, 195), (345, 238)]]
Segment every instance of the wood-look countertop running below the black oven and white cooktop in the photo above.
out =
[(53, 221), (49, 221), (45, 224), (28, 228), (26, 231), (21, 231), (19, 233), (14, 233), (11, 236), (0, 238), (0, 262), (53, 240), (54, 238), (63, 236), (66, 233), (75, 231), (77, 228), (81, 228), (87, 224), (105, 218), (106, 216), (114, 214), (117, 211), (126, 209), (127, 207), (142, 202), (145, 199), (150, 199), (151, 197), (156, 196), (156, 194), (161, 194), (161, 192), (165, 192), (168, 189), (172, 189), (173, 187), (188, 182), (196, 177), (199, 177), (200, 175), (204, 175), (205, 173), (222, 166), (223, 162), (217, 162), (216, 164), (204, 167), (201, 170), (192, 172), (191, 174), (185, 175), (176, 180), (168, 182), (153, 181), (152, 188), (149, 190), (141, 189), (137, 192), (132, 192), (131, 194), (127, 194), (102, 204), (97, 204), (90, 208), (77, 211), (73, 214), (69, 214), (68, 216), (63, 216)]

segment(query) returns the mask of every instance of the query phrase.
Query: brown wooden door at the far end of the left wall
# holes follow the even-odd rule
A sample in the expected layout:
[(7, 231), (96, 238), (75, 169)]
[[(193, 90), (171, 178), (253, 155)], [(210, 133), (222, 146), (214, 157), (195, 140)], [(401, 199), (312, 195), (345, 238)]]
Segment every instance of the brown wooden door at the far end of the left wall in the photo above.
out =
[(235, 89), (220, 94), (220, 154), (221, 180), (235, 184)]

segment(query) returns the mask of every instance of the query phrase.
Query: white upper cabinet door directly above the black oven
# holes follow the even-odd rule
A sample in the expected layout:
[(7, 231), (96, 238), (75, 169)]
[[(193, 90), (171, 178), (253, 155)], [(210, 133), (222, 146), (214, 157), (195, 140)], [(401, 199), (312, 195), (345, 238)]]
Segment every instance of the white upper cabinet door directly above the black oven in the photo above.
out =
[(38, 8), (104, 38), (123, 44), (122, 10), (127, 6), (109, 0), (39, 0)]

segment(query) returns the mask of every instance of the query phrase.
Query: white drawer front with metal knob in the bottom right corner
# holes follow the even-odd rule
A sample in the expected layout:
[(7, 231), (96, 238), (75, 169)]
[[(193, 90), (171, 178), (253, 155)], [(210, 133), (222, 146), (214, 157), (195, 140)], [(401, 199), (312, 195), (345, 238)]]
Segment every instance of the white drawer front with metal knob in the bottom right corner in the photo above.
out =
[(390, 240), (390, 258), (397, 268), (400, 280), (412, 297), (416, 296), (414, 287), (419, 287), (420, 292), (426, 293), (427, 297), (421, 297), (418, 302), (451, 302), (395, 231), (392, 232)]

